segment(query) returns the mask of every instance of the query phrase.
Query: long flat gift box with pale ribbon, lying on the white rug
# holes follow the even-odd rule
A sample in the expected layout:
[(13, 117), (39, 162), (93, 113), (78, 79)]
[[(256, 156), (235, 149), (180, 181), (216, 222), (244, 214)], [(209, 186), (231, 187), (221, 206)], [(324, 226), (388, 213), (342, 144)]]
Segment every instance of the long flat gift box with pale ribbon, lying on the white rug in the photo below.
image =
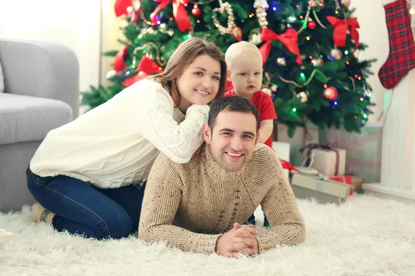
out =
[(315, 197), (322, 203), (341, 204), (349, 197), (351, 186), (339, 181), (295, 173), (291, 179), (291, 188), (297, 198)]

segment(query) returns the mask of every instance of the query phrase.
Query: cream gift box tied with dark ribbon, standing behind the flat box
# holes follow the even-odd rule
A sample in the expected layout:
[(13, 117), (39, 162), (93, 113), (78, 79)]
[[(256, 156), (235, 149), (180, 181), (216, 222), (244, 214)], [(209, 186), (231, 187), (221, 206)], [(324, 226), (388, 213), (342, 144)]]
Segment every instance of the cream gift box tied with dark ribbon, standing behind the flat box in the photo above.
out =
[[(307, 150), (304, 156), (308, 156)], [(323, 175), (344, 175), (346, 168), (346, 150), (342, 148), (315, 148), (311, 150), (311, 167)]]

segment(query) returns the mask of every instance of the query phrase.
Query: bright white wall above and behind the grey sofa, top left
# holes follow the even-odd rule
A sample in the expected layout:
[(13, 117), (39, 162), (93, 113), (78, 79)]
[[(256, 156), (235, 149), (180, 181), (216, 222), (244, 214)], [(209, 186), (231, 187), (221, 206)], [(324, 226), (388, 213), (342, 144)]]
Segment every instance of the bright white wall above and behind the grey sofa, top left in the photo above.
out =
[(0, 0), (0, 34), (52, 39), (80, 62), (80, 90), (100, 79), (100, 0)]

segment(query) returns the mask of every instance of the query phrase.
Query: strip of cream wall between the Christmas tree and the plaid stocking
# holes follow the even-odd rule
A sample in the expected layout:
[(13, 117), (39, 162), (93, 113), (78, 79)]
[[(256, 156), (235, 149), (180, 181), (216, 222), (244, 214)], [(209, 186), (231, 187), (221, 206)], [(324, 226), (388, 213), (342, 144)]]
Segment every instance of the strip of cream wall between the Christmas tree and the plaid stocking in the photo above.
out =
[(382, 0), (351, 0), (350, 8), (356, 8), (353, 16), (358, 19), (360, 24), (360, 29), (358, 29), (360, 41), (369, 46), (367, 50), (358, 53), (358, 59), (378, 59), (371, 66), (374, 75), (367, 80), (374, 89), (371, 100), (376, 103), (376, 106), (371, 108), (374, 115), (369, 116), (369, 123), (374, 123), (382, 114), (385, 93), (385, 88), (380, 84), (378, 72), (389, 55), (385, 9), (382, 6)]

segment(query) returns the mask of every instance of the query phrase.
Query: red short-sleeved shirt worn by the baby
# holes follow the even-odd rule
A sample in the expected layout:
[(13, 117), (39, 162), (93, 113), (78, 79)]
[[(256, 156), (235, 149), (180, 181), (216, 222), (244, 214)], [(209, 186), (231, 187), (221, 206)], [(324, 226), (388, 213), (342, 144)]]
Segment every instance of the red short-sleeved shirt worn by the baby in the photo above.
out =
[[(229, 90), (225, 93), (225, 97), (235, 96), (234, 90)], [(259, 113), (259, 121), (277, 119), (277, 113), (275, 112), (275, 107), (271, 97), (262, 90), (255, 92), (254, 97), (250, 99), (250, 102), (257, 107)], [(266, 146), (273, 148), (273, 139), (271, 137), (265, 141)]]

